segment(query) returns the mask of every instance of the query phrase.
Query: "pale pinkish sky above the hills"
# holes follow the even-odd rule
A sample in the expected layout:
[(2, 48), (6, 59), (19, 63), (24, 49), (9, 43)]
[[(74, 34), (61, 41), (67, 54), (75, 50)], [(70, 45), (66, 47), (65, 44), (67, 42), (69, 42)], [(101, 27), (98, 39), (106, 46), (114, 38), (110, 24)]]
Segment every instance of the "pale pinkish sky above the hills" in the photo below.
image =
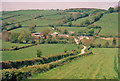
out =
[[(34, 1), (34, 2), (33, 2)], [(3, 0), (2, 1), (2, 10), (4, 11), (14, 11), (14, 10), (26, 10), (26, 9), (68, 9), (68, 8), (99, 8), (99, 9), (108, 9), (109, 7), (115, 7), (118, 5), (118, 1), (108, 1), (104, 2), (102, 0), (93, 1), (86, 0), (83, 2), (80, 0), (63, 0), (54, 1), (54, 0)], [(72, 2), (73, 1), (73, 2)], [(77, 2), (78, 1), (78, 2)]]

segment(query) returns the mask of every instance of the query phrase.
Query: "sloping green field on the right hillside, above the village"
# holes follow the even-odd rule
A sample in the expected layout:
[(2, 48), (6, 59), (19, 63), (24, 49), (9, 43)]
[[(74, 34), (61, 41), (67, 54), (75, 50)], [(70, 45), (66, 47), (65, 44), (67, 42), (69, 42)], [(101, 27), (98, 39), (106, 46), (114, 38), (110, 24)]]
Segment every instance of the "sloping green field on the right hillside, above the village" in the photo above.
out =
[(99, 35), (110, 36), (118, 34), (118, 14), (110, 13), (104, 14), (103, 17), (94, 24), (102, 27)]

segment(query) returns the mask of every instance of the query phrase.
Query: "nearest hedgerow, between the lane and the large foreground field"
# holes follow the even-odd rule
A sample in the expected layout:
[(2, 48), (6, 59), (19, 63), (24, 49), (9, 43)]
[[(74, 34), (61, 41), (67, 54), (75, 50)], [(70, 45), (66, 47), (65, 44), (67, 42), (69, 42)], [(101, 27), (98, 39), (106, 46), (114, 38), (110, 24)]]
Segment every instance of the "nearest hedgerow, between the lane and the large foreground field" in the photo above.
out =
[(3, 69), (2, 81), (8, 81), (8, 80), (20, 81), (20, 80), (26, 79), (27, 77), (33, 75), (34, 73), (48, 71), (57, 66), (64, 65), (65, 63), (70, 62), (75, 58), (89, 55), (89, 54), (92, 54), (92, 52), (86, 52), (85, 54), (82, 54), (82, 55), (69, 56), (64, 59), (58, 60), (56, 62), (47, 63), (47, 64), (32, 65), (32, 66), (23, 67), (20, 69)]

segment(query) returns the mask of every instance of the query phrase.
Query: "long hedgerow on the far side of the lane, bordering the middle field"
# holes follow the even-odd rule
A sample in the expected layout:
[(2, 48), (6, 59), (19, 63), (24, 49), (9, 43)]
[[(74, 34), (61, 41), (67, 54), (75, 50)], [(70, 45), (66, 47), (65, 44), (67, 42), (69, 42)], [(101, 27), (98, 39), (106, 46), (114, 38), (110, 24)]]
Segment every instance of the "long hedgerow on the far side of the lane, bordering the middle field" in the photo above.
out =
[(21, 68), (24, 66), (29, 66), (29, 65), (34, 65), (34, 64), (45, 64), (49, 63), (52, 61), (56, 61), (68, 56), (75, 55), (79, 53), (80, 51), (78, 50), (77, 52), (70, 52), (70, 53), (63, 53), (59, 55), (49, 55), (49, 56), (43, 56), (43, 57), (38, 57), (38, 58), (33, 58), (33, 59), (23, 59), (23, 60), (15, 60), (15, 61), (2, 61), (0, 64), (2, 64), (2, 69), (8, 69), (8, 68)]

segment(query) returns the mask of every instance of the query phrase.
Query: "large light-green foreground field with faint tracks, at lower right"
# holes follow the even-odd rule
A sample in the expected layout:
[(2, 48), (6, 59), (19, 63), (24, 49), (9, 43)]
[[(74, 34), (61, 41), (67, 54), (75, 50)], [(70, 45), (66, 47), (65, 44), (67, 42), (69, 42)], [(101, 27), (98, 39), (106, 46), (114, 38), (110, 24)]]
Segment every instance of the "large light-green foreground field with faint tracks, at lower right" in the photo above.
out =
[(94, 55), (80, 57), (30, 79), (117, 79), (117, 48), (94, 48)]

